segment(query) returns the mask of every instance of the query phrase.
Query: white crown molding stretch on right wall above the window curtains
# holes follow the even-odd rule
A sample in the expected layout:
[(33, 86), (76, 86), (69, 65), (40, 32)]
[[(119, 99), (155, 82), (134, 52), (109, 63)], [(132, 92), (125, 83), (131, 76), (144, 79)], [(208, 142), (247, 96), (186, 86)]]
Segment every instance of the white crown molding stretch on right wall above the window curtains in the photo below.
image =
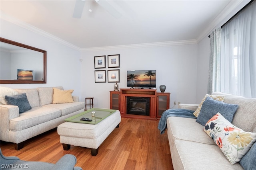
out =
[[(218, 25), (222, 25), (223, 23), (225, 23), (226, 21), (224, 21), (224, 19), (236, 8), (239, 6), (239, 4), (241, 4), (242, 2), (244, 2), (245, 0), (231, 0), (230, 2), (228, 2), (228, 4), (225, 6), (225, 8), (216, 16), (216, 18), (211, 22), (211, 24), (207, 27), (207, 29), (205, 29), (205, 31), (203, 31), (203, 33), (198, 36), (197, 41), (198, 43), (205, 37), (208, 36), (210, 34), (210, 32), (212, 31), (212, 29), (214, 29), (215, 27), (217, 27)], [(250, 0), (247, 0), (248, 2)], [(242, 8), (242, 7), (241, 7)]]

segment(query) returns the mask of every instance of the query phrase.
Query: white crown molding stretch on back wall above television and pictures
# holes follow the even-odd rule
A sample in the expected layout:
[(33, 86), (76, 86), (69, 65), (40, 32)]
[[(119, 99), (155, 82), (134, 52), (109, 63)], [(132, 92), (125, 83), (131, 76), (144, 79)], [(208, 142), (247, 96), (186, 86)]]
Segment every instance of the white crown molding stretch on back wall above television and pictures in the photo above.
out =
[(106, 51), (106, 50), (117, 50), (117, 49), (134, 49), (134, 48), (147, 48), (147, 47), (163, 47), (163, 46), (173, 46), (173, 45), (187, 45), (187, 44), (197, 44), (196, 39), (184, 40), (184, 41), (166, 41), (159, 43), (143, 43), (143, 44), (132, 44), (132, 45), (116, 45), (108, 47), (92, 47), (84, 48), (81, 51)]

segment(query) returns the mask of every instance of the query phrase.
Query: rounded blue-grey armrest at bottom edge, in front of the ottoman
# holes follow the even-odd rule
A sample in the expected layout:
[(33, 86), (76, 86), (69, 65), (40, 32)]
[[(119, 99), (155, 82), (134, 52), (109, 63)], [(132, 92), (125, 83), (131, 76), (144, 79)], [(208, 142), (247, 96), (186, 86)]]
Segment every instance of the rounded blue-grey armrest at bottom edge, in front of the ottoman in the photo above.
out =
[[(56, 164), (51, 168), (52, 170), (73, 170), (76, 165), (76, 156), (72, 154), (65, 154)], [(82, 168), (81, 168), (82, 170)]]

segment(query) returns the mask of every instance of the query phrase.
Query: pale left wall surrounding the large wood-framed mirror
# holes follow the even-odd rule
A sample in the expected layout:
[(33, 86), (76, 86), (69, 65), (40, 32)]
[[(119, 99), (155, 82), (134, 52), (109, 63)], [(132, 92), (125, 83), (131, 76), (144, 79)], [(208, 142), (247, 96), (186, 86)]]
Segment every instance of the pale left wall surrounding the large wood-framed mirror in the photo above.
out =
[(46, 84), (0, 84), (10, 88), (63, 86), (80, 96), (80, 51), (6, 20), (0, 20), (0, 37), (47, 51)]

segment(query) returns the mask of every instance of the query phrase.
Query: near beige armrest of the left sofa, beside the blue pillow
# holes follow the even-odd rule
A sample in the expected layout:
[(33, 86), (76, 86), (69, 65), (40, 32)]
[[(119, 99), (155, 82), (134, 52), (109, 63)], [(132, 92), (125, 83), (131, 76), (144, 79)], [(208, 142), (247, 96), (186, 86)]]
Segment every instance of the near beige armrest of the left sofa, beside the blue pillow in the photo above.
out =
[(8, 132), (10, 120), (19, 117), (19, 107), (13, 105), (0, 105), (0, 139), (9, 142)]

